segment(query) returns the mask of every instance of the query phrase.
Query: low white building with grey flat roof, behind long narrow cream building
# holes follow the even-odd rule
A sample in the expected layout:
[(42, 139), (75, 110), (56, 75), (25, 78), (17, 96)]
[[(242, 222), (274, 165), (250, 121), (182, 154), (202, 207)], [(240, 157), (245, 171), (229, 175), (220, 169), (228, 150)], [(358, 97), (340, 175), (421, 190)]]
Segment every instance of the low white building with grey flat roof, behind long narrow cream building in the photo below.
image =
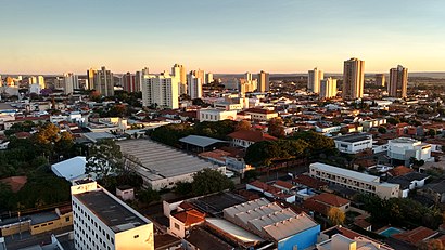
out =
[(334, 137), (336, 149), (347, 154), (357, 154), (372, 149), (372, 135), (367, 133), (346, 134)]

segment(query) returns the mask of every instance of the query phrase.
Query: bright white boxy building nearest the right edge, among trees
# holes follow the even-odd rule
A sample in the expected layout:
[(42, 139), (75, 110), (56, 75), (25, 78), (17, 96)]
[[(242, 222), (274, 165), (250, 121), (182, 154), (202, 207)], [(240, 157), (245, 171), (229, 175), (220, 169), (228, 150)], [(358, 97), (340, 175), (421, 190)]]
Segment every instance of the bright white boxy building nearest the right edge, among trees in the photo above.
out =
[(392, 159), (409, 162), (411, 157), (416, 160), (429, 161), (431, 159), (431, 144), (409, 137), (390, 140), (387, 143), (387, 156)]

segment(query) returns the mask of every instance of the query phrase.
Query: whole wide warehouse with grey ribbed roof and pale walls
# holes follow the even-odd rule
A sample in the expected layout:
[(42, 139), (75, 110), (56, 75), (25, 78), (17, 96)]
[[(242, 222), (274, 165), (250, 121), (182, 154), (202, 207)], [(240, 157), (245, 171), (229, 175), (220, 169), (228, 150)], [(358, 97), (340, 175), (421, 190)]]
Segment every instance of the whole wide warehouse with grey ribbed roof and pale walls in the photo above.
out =
[(178, 149), (151, 140), (127, 140), (117, 143), (127, 158), (127, 167), (154, 190), (173, 188), (178, 182), (191, 182), (193, 174), (203, 169), (226, 173), (225, 166), (213, 165)]

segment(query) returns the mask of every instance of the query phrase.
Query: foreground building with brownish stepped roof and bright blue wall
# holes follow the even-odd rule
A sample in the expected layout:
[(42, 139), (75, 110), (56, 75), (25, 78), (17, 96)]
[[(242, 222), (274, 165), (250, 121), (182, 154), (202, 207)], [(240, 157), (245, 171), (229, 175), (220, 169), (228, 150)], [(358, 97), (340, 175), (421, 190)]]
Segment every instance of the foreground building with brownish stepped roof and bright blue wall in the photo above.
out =
[(265, 198), (223, 210), (224, 219), (275, 242), (278, 250), (312, 249), (320, 225), (306, 213), (295, 213)]

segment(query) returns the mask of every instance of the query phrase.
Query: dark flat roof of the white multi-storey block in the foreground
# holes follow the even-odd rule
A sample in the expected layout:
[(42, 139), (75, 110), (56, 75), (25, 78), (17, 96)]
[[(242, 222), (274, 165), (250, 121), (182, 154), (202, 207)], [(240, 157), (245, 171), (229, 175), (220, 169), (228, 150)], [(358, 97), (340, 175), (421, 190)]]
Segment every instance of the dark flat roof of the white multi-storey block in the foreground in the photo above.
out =
[(149, 222), (149, 220), (145, 219), (147, 221), (144, 221), (139, 214), (128, 210), (102, 189), (74, 196), (114, 233), (131, 229)]

